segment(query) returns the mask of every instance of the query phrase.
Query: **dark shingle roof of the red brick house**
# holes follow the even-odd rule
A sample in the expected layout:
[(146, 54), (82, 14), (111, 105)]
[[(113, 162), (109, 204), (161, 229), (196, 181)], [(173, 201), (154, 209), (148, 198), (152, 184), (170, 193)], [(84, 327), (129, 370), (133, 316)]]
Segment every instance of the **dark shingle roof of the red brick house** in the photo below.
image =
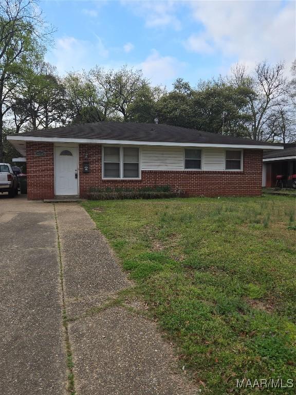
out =
[[(63, 137), (154, 142), (267, 145), (251, 139), (180, 128), (163, 123), (94, 122), (22, 133), (22, 136)], [(18, 135), (18, 136), (21, 136)]]

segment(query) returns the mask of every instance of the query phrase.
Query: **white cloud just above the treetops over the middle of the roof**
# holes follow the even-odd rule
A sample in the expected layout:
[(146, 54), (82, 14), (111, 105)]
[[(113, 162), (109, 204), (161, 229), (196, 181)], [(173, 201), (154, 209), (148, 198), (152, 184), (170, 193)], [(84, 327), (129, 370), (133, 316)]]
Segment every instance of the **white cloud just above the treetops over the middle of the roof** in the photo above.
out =
[(171, 83), (182, 74), (185, 64), (171, 56), (160, 56), (155, 49), (137, 68), (141, 68), (146, 78), (153, 84)]

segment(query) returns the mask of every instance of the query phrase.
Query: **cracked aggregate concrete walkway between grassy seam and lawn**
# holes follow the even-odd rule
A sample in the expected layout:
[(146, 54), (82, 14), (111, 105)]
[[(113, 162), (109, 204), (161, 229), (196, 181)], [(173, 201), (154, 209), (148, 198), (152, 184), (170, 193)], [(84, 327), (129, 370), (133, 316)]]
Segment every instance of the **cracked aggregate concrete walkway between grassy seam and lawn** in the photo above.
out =
[(68, 330), (78, 395), (196, 394), (154, 322), (123, 307), (85, 314), (133, 284), (86, 211), (77, 204), (55, 207), (67, 316), (75, 318)]

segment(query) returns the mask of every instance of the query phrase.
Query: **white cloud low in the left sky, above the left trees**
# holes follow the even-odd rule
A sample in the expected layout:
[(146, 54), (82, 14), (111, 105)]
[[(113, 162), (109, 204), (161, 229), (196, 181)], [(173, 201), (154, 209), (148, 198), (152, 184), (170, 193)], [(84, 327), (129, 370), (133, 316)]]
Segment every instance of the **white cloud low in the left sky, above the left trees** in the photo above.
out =
[(96, 36), (94, 43), (75, 37), (62, 37), (55, 48), (47, 53), (46, 60), (55, 65), (61, 74), (71, 70), (88, 69), (108, 58), (109, 52), (102, 40)]

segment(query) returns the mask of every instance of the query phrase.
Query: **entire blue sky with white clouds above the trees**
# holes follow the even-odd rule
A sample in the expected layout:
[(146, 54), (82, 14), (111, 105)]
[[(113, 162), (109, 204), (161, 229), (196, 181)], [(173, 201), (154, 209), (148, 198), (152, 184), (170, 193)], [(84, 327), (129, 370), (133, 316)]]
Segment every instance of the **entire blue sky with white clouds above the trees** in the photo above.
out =
[(96, 64), (141, 68), (153, 84), (225, 75), (236, 62), (295, 58), (295, 2), (43, 0), (60, 74)]

